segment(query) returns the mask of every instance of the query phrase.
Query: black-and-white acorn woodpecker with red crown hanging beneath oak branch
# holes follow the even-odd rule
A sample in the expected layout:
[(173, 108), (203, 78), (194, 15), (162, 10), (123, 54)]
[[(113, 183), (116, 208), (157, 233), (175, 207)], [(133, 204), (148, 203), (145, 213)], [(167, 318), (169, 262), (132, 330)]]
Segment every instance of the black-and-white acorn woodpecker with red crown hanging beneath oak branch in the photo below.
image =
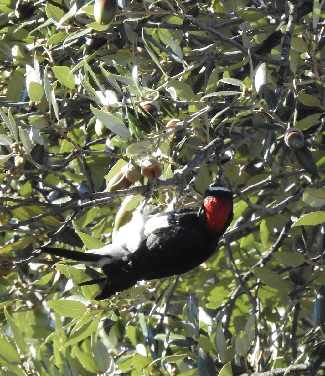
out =
[(185, 273), (206, 261), (233, 219), (233, 198), (227, 188), (206, 190), (199, 212), (181, 209), (153, 215), (133, 213), (113, 243), (101, 249), (77, 252), (42, 247), (42, 252), (99, 267), (106, 277), (82, 282), (105, 282), (96, 300), (126, 290), (140, 280)]

